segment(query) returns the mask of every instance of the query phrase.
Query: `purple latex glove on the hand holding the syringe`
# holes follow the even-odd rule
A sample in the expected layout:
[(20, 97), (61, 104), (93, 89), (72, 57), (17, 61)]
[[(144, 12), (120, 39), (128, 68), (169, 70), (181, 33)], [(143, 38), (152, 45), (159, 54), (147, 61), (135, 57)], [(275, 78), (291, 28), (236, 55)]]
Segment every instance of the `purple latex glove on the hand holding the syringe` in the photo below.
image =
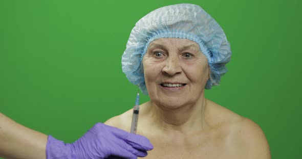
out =
[(143, 136), (130, 134), (127, 131), (103, 123), (95, 124), (80, 139), (65, 144), (52, 136), (48, 136), (46, 158), (137, 158), (147, 155), (153, 146)]

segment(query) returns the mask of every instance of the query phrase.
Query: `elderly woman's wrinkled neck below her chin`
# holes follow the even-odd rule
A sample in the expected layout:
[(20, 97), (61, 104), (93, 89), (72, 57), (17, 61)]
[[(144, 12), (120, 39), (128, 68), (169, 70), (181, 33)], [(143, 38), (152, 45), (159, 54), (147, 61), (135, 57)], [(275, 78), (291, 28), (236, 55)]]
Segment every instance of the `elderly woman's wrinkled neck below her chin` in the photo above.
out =
[(182, 105), (177, 109), (169, 109), (151, 101), (149, 115), (152, 116), (154, 126), (164, 131), (179, 131), (187, 134), (202, 130), (207, 126), (204, 118), (205, 100), (202, 93), (196, 102)]

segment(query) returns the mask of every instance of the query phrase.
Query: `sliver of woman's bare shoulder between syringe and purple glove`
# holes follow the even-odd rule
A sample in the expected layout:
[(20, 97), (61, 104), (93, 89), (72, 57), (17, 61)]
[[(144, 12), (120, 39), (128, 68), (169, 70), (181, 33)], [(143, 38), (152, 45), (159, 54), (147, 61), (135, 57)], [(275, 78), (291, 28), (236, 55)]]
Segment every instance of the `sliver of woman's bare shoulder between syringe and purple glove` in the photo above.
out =
[(114, 126), (125, 131), (129, 131), (131, 126), (132, 111), (133, 110), (131, 109), (121, 115), (112, 117), (105, 121), (104, 124)]

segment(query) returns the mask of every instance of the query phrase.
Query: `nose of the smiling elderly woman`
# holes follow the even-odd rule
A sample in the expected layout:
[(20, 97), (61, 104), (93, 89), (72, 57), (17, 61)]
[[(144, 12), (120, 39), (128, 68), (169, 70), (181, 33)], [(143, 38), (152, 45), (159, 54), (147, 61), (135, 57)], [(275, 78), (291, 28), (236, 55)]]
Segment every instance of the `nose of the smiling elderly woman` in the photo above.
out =
[(182, 69), (179, 59), (176, 57), (168, 57), (162, 71), (170, 76), (181, 73)]

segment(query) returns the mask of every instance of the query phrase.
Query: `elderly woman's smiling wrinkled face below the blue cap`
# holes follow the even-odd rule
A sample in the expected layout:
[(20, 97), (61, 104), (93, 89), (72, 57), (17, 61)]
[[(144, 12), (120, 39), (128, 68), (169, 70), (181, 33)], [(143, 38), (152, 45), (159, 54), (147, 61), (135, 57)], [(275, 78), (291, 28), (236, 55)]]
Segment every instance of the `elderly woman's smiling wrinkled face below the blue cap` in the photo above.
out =
[(206, 57), (196, 42), (187, 39), (150, 42), (142, 63), (150, 99), (170, 109), (195, 103), (209, 78)]

